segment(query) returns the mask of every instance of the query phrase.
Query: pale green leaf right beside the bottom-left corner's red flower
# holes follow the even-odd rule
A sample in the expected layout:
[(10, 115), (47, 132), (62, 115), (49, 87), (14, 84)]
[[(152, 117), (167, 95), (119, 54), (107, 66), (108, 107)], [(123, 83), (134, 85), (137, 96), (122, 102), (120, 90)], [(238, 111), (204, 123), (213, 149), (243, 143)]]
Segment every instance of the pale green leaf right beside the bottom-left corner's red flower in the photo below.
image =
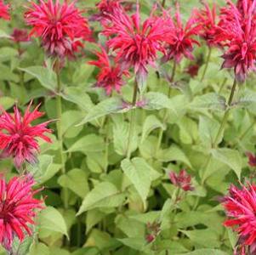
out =
[(53, 232), (58, 232), (67, 235), (67, 228), (63, 216), (54, 207), (46, 207), (39, 214), (40, 229), (48, 229)]

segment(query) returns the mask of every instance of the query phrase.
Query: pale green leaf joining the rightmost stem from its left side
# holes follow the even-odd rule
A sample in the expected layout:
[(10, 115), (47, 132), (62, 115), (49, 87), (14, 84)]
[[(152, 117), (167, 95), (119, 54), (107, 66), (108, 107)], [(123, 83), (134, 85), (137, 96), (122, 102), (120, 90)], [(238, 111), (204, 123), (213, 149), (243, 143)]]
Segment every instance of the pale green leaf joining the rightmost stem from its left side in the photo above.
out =
[(194, 109), (212, 109), (224, 111), (226, 108), (225, 98), (215, 93), (203, 94), (196, 96), (189, 107)]

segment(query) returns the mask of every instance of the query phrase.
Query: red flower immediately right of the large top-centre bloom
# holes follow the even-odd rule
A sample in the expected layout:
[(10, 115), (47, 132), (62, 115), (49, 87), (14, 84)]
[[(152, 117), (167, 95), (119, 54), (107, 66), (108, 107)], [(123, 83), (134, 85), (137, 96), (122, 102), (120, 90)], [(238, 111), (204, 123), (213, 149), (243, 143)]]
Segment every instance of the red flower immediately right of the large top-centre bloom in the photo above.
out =
[(169, 18), (170, 26), (172, 27), (173, 34), (171, 34), (170, 42), (167, 44), (168, 53), (163, 57), (163, 62), (167, 62), (170, 59), (174, 59), (177, 63), (180, 62), (183, 56), (188, 59), (194, 59), (191, 54), (193, 51), (193, 45), (200, 45), (194, 36), (199, 34), (202, 26), (197, 23), (194, 14), (187, 21), (185, 26), (183, 26), (180, 13), (179, 4), (176, 4), (175, 19)]

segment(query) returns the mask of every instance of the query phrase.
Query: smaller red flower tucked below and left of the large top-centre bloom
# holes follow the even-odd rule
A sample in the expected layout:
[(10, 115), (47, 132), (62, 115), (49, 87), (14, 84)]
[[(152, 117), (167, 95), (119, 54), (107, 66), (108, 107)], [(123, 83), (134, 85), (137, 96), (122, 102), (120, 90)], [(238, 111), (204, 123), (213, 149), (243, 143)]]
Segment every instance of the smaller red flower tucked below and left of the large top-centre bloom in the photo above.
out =
[(115, 63), (115, 61), (111, 61), (111, 58), (105, 52), (104, 48), (101, 47), (101, 52), (96, 52), (95, 54), (98, 56), (98, 60), (90, 61), (89, 64), (100, 68), (96, 86), (104, 88), (108, 95), (110, 95), (113, 90), (119, 93), (124, 84), (122, 77), (128, 77), (128, 71), (122, 70), (120, 65)]

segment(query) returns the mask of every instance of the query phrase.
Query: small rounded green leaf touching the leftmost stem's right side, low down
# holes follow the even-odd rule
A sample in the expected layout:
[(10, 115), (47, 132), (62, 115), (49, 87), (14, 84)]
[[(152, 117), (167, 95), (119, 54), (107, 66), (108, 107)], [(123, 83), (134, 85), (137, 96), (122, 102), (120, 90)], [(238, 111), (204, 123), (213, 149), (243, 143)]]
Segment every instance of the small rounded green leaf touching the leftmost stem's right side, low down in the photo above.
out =
[(84, 197), (88, 194), (88, 181), (87, 176), (81, 169), (72, 169), (65, 175), (61, 175), (58, 179), (58, 183), (65, 188), (72, 190), (80, 197)]

